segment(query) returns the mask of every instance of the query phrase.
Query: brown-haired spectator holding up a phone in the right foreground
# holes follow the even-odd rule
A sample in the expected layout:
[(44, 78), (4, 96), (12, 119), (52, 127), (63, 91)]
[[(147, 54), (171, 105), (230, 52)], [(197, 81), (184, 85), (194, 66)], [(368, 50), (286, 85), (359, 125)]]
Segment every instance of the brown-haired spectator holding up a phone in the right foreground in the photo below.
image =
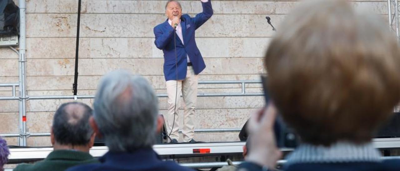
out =
[(289, 14), (266, 57), (270, 103), (251, 119), (239, 171), (275, 167), (279, 113), (300, 136), (286, 171), (394, 171), (371, 143), (400, 101), (400, 50), (380, 16), (344, 0), (305, 2)]

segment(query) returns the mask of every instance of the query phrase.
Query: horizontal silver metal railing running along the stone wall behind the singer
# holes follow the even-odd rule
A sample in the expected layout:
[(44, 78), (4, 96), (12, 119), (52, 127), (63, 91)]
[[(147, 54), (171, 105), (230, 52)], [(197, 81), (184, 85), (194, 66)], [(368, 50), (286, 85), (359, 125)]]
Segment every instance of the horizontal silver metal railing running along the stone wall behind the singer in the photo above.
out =
[[(199, 93), (198, 97), (221, 97), (221, 96), (262, 96), (264, 93), (248, 93), (246, 92), (247, 84), (261, 84), (261, 80), (238, 80), (238, 81), (199, 81), (198, 84), (240, 84), (241, 91), (238, 93)], [(1, 86), (3, 85), (3, 86)], [(6, 86), (7, 85), (7, 86)], [(18, 86), (18, 84), (0, 84), (0, 87)], [(0, 100), (21, 100), (20, 97), (15, 96), (15, 87), (12, 89), (12, 97), (0, 97)], [(94, 95), (60, 95), (60, 96), (25, 96), (25, 100), (44, 100), (44, 99), (93, 99)], [(157, 94), (157, 97), (168, 97), (167, 94)], [(197, 133), (211, 133), (211, 132), (238, 132), (241, 128), (219, 128), (219, 129), (195, 129)], [(179, 131), (182, 133), (182, 131)], [(20, 137), (26, 142), (27, 137), (43, 137), (50, 136), (50, 133), (30, 133), (28, 131), (21, 131), (21, 133), (8, 133), (0, 134), (2, 137)], [(26, 144), (24, 145), (26, 146)]]

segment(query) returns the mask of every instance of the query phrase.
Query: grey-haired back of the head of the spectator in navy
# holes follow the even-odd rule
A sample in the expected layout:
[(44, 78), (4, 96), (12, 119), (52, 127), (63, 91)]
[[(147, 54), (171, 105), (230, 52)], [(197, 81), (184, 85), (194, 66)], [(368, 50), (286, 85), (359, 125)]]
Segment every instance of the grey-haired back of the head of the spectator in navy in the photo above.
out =
[(157, 116), (158, 99), (142, 76), (118, 70), (102, 78), (94, 100), (94, 119), (110, 151), (151, 148)]

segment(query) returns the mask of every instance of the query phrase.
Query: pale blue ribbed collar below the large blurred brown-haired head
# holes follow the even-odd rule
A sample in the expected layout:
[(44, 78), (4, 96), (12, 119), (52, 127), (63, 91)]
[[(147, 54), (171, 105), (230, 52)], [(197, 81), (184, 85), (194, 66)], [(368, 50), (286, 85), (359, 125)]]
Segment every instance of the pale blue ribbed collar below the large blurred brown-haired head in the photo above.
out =
[(381, 162), (380, 152), (372, 143), (354, 144), (341, 141), (330, 147), (302, 144), (290, 153), (287, 165), (296, 163)]

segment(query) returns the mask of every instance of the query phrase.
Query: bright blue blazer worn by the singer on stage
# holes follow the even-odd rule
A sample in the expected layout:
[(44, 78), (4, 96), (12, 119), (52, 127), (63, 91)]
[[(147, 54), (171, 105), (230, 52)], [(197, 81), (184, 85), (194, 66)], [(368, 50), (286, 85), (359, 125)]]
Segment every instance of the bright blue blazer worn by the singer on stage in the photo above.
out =
[[(162, 24), (154, 27), (156, 47), (164, 52), (164, 77), (165, 80), (184, 80), (186, 78), (187, 57), (192, 62), (194, 74), (199, 74), (206, 68), (203, 57), (197, 48), (195, 31), (204, 24), (213, 14), (211, 0), (202, 2), (203, 12), (194, 18), (188, 14), (181, 16), (183, 44), (175, 33), (174, 28), (168, 23), (168, 19)], [(174, 46), (174, 35), (176, 42), (176, 56)], [(178, 68), (176, 68), (176, 63)], [(177, 75), (178, 74), (178, 75)]]

